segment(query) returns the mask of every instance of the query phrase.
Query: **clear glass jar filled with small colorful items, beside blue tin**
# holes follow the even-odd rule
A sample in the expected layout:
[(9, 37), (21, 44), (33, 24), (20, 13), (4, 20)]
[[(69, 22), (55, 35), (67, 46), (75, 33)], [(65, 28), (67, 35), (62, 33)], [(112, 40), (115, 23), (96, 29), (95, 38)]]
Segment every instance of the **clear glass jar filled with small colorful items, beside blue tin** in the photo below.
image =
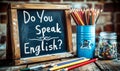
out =
[(97, 47), (97, 56), (100, 59), (117, 58), (117, 36), (116, 33), (101, 32)]

